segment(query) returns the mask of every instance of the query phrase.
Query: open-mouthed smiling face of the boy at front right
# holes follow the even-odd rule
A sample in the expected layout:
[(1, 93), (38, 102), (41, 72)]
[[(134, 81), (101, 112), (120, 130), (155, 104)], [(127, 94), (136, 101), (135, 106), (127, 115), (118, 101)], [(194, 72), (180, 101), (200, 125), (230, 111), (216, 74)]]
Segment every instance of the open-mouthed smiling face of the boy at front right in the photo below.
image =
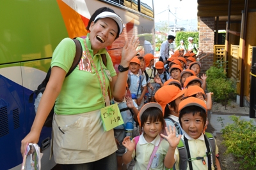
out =
[(204, 119), (200, 113), (186, 113), (180, 118), (182, 129), (193, 139), (198, 139), (204, 130)]

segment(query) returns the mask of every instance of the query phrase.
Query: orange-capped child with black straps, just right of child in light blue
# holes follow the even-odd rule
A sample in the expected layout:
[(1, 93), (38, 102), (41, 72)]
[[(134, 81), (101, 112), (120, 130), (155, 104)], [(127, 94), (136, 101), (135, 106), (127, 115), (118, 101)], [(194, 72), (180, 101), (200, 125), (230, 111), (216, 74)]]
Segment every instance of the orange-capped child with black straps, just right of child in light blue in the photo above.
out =
[(154, 96), (157, 90), (157, 83), (154, 80), (154, 78), (157, 75), (156, 67), (154, 67), (154, 62), (156, 58), (157, 57), (154, 57), (152, 53), (147, 53), (146, 55), (144, 55), (146, 66), (144, 73), (146, 75), (147, 83), (150, 83), (150, 85), (153, 87), (153, 90), (150, 87), (148, 87), (148, 100), (151, 102), (155, 101)]

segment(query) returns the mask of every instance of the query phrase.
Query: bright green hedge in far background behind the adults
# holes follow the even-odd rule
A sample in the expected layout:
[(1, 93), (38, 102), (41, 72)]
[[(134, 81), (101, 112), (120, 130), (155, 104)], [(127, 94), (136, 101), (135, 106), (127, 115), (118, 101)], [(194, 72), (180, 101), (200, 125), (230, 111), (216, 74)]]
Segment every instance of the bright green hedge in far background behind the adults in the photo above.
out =
[(184, 45), (186, 47), (186, 49), (188, 49), (188, 38), (189, 37), (193, 37), (193, 43), (198, 45), (198, 36), (199, 36), (199, 32), (177, 32), (176, 33), (176, 38), (175, 38), (175, 46), (179, 46), (180, 45), (180, 40), (183, 39), (184, 40)]

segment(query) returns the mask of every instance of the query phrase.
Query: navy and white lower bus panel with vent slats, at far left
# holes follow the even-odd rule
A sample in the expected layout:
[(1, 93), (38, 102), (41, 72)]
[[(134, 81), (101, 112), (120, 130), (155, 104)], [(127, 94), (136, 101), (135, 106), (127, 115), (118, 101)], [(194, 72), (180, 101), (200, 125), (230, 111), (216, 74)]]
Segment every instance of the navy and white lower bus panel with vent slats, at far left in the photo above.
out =
[[(24, 110), (23, 88), (20, 85), (20, 64), (0, 67), (0, 165), (1, 169), (10, 169), (22, 162), (20, 141), (26, 132), (26, 114)], [(8, 70), (7, 70), (8, 69)], [(3, 72), (15, 73), (12, 81)], [(20, 77), (20, 78), (17, 78)]]

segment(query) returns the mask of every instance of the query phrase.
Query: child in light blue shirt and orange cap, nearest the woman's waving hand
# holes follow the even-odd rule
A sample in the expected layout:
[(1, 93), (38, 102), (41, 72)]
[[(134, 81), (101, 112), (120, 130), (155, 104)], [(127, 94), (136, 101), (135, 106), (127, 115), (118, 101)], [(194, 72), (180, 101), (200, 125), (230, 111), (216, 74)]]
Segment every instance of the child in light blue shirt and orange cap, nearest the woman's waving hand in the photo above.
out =
[(132, 99), (136, 99), (140, 110), (144, 104), (144, 96), (147, 92), (147, 81), (145, 76), (140, 73), (140, 60), (138, 57), (134, 57), (130, 62), (127, 83)]

